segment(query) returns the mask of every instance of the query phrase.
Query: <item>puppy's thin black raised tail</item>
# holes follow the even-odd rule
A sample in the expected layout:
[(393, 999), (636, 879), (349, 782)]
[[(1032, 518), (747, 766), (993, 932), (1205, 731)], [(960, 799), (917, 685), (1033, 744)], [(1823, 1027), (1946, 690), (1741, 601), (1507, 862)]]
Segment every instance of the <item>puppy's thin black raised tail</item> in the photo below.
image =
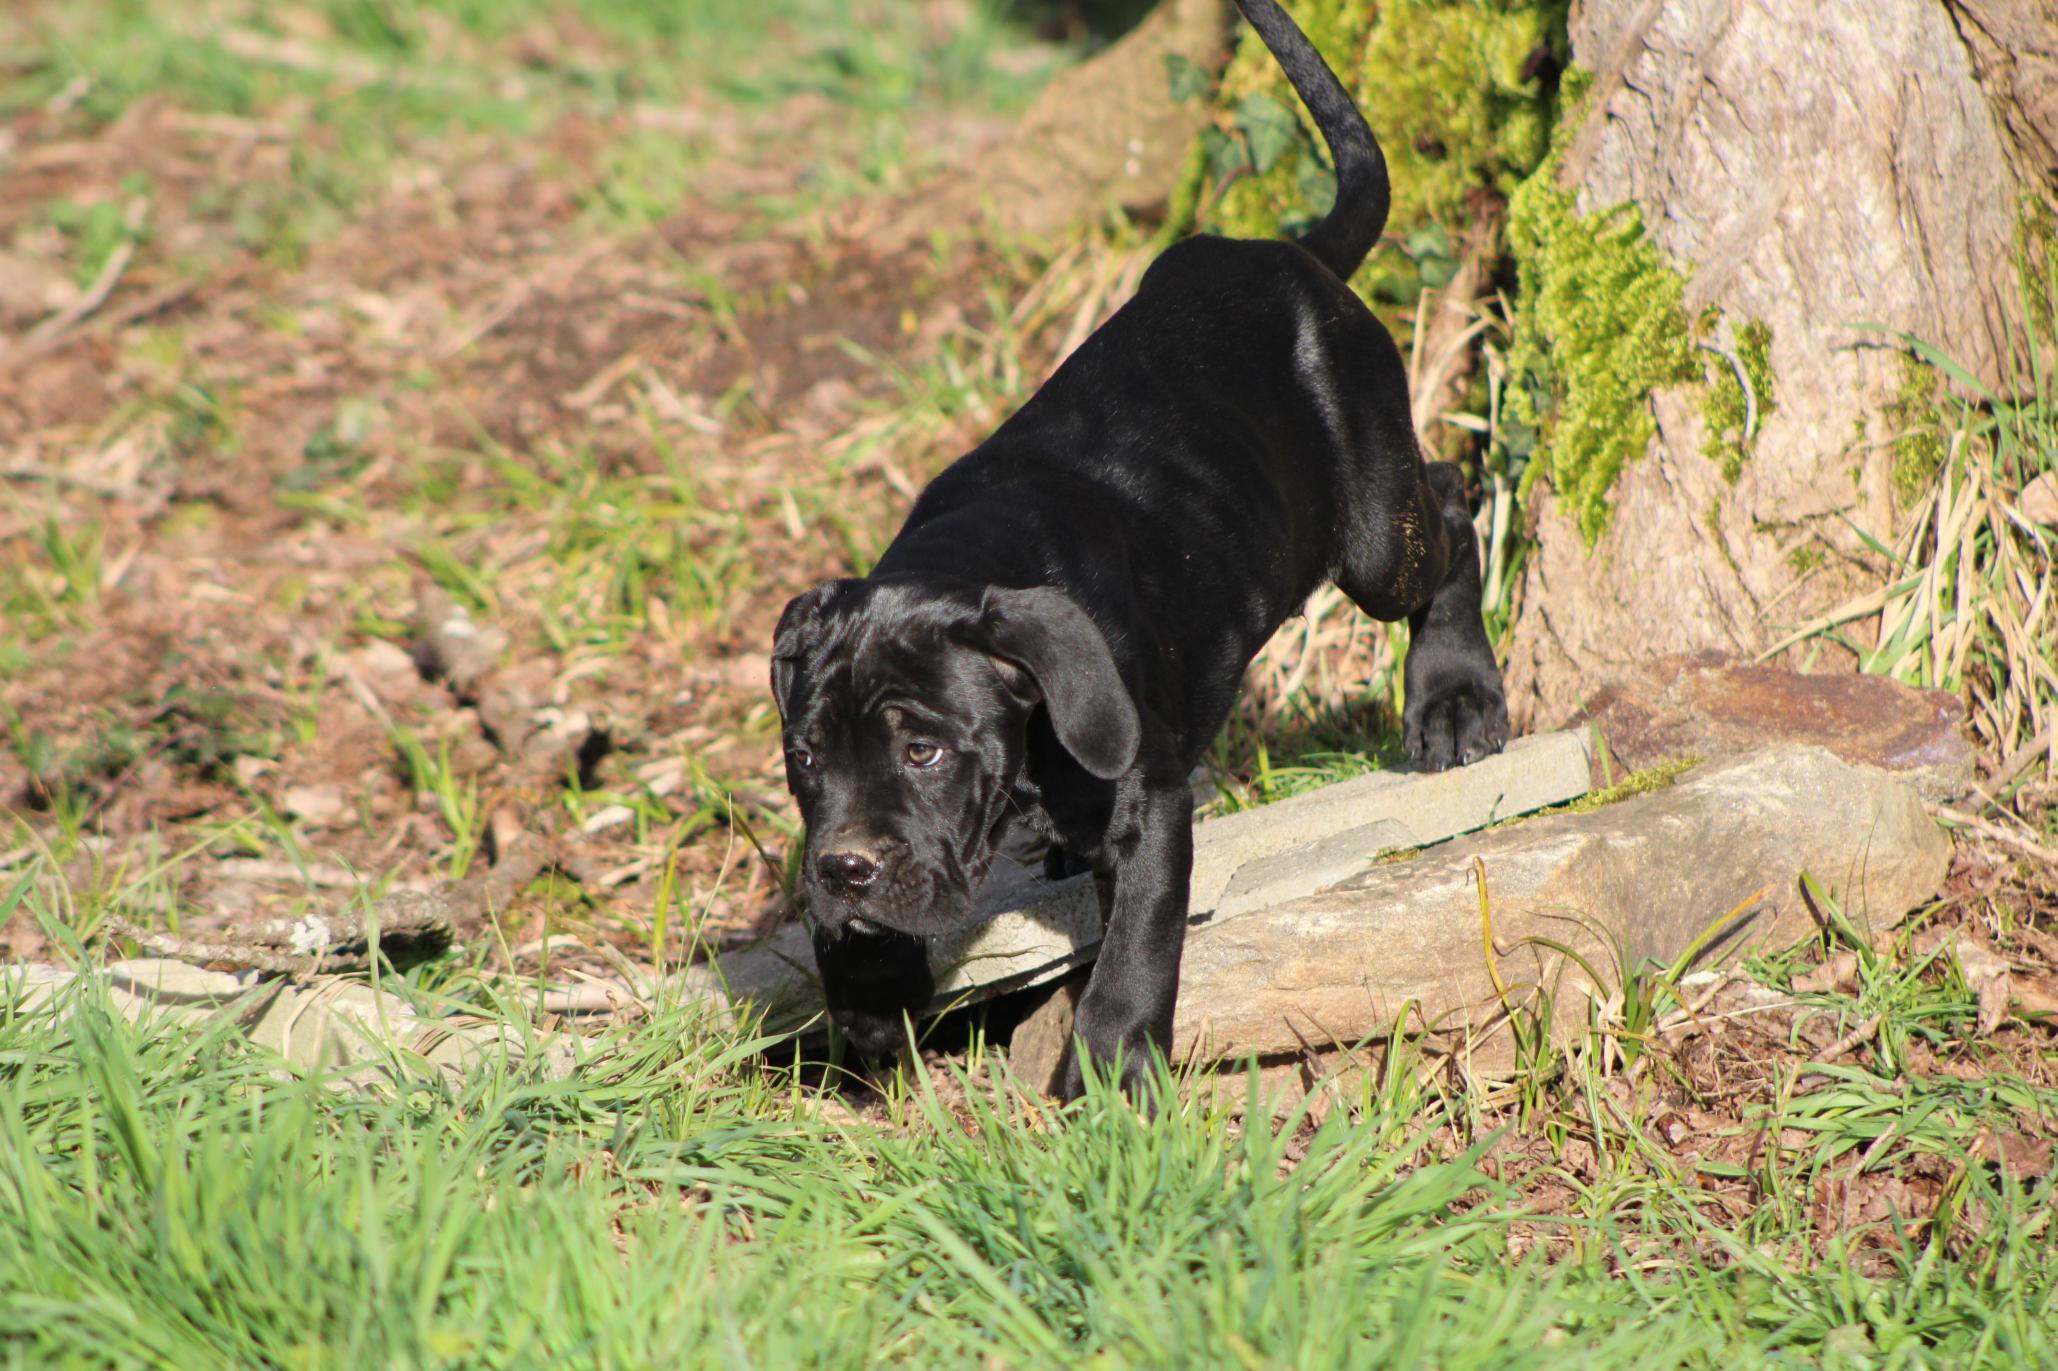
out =
[(1315, 115), (1321, 140), (1329, 144), (1329, 161), (1336, 163), (1336, 204), (1319, 224), (1301, 235), (1301, 247), (1348, 278), (1387, 226), (1391, 200), (1387, 159), (1350, 93), (1286, 10), (1276, 0), (1237, 0), (1237, 8), (1272, 49), (1286, 80)]

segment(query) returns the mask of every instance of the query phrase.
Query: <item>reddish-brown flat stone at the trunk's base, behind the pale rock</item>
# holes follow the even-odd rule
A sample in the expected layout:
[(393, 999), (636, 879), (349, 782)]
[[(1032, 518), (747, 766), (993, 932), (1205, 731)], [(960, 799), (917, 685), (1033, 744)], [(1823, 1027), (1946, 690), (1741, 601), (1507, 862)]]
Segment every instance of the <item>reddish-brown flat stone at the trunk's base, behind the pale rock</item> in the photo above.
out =
[(1883, 675), (1803, 675), (1723, 653), (1661, 657), (1587, 700), (1607, 751), (1628, 770), (1679, 758), (1735, 758), (1772, 743), (1813, 743), (1846, 762), (1897, 772), (1924, 799), (1972, 784), (1965, 706), (1943, 690)]

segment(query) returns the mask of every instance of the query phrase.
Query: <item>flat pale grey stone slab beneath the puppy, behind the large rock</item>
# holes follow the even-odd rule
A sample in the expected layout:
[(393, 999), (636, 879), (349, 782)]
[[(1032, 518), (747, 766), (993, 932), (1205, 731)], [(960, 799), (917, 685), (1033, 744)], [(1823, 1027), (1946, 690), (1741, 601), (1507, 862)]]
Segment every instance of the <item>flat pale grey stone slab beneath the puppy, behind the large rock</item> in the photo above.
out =
[[(1247, 916), (1315, 893), (1383, 852), (1443, 842), (1587, 793), (1585, 733), (1515, 739), (1449, 772), (1377, 772), (1194, 825), (1194, 924)], [(1045, 881), (1002, 863), (971, 918), (930, 941), (932, 1009), (1043, 984), (1093, 959), (1101, 910), (1089, 877)], [(821, 1009), (815, 953), (796, 924), (681, 972), (694, 992), (751, 1000), (774, 1025)]]

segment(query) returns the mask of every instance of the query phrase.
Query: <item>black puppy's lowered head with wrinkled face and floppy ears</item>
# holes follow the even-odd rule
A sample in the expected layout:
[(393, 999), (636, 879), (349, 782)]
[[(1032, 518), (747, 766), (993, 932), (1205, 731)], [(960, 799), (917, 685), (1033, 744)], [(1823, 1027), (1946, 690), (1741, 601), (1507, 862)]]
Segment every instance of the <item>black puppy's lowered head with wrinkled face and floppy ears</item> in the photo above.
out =
[(1136, 706), (1093, 620), (1054, 589), (829, 581), (778, 624), (772, 694), (807, 821), (817, 922), (934, 935), (992, 865), (1037, 708), (1078, 764), (1136, 760)]

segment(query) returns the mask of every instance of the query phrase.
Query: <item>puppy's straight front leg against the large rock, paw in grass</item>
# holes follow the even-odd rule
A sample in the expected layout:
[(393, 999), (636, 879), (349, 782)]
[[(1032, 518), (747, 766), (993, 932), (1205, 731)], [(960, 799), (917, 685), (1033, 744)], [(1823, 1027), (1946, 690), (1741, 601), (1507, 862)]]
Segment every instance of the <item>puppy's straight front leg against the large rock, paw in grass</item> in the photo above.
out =
[(1120, 1062), (1122, 1089), (1155, 1103), (1148, 1097), (1150, 1056), (1152, 1048), (1171, 1054), (1192, 875), (1194, 793), (1177, 766), (1140, 766), (1122, 782), (1113, 823), (1093, 865), (1107, 930), (1078, 1000), (1060, 1087), (1066, 1099), (1085, 1091), (1080, 1054), (1087, 1052), (1103, 1070)]

